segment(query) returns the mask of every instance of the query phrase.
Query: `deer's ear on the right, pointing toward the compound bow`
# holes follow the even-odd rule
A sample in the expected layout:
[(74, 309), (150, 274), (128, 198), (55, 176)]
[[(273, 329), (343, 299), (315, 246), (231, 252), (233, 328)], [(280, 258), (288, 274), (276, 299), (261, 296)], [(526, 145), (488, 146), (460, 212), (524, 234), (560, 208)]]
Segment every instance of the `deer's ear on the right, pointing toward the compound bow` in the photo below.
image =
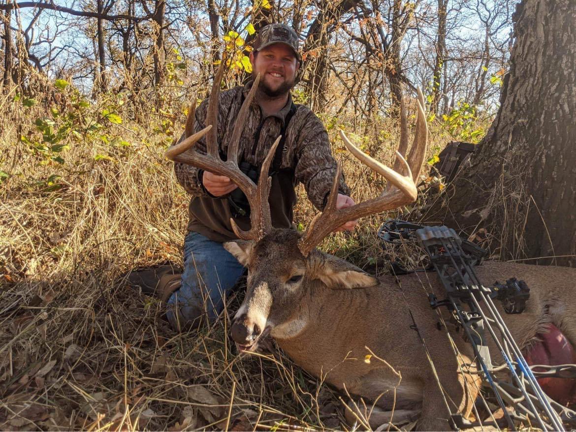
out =
[(360, 268), (340, 258), (325, 253), (319, 253), (312, 272), (314, 279), (320, 279), (333, 290), (365, 288), (378, 284), (374, 276), (370, 276)]

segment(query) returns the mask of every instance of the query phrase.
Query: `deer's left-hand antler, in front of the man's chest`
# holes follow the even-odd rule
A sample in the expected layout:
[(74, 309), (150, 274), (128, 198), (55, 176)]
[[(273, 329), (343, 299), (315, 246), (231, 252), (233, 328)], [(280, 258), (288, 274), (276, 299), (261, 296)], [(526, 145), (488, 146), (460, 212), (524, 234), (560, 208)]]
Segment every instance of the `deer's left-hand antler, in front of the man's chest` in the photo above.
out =
[[(172, 159), (176, 162), (183, 162), (184, 164), (196, 166), (197, 168), (204, 169), (211, 173), (218, 174), (219, 176), (226, 176), (232, 180), (232, 183), (236, 184), (250, 204), (250, 223), (251, 228), (248, 231), (241, 230), (236, 225), (233, 219), (230, 219), (232, 224), (232, 230), (242, 240), (259, 240), (264, 237), (264, 234), (272, 229), (272, 219), (270, 217), (270, 205), (268, 204), (268, 194), (270, 194), (271, 178), (268, 177), (268, 170), (270, 169), (270, 164), (274, 158), (274, 153), (276, 146), (281, 137), (278, 137), (271, 149), (268, 151), (264, 163), (262, 164), (262, 169), (260, 170), (260, 177), (258, 180), (258, 185), (253, 183), (253, 181), (245, 175), (240, 168), (238, 168), (238, 144), (240, 143), (240, 137), (242, 135), (242, 129), (245, 126), (246, 118), (248, 115), (250, 104), (252, 99), (256, 94), (256, 89), (258, 88), (258, 83), (260, 81), (260, 75), (256, 77), (252, 88), (245, 98), (242, 107), (238, 112), (236, 118), (236, 123), (234, 124), (234, 130), (232, 132), (232, 138), (228, 144), (228, 158), (226, 161), (221, 160), (218, 154), (218, 137), (217, 137), (217, 127), (213, 127), (218, 124), (218, 98), (220, 93), (220, 84), (222, 82), (223, 65), (224, 60), (220, 63), (216, 77), (214, 78), (214, 83), (212, 85), (212, 91), (210, 93), (210, 100), (208, 102), (208, 111), (206, 115), (206, 123), (208, 126), (203, 128), (203, 130), (196, 132), (185, 138), (179, 144), (176, 144), (166, 150), (166, 157)], [(190, 113), (194, 115), (195, 109), (190, 109)], [(190, 114), (189, 114), (190, 116)], [(190, 120), (190, 119), (189, 119)], [(190, 123), (187, 121), (187, 125)], [(190, 129), (190, 131), (188, 131)], [(185, 131), (186, 134), (192, 133), (192, 128), (187, 127)], [(195, 143), (206, 135), (206, 150), (207, 154), (199, 153), (198, 151), (188, 151), (191, 149)]]

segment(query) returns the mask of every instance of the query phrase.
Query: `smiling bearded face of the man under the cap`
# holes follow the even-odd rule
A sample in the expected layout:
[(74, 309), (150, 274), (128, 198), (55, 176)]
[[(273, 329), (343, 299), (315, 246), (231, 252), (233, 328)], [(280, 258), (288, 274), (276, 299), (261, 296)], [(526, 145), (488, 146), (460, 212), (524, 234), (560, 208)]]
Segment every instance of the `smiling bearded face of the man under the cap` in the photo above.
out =
[(262, 48), (255, 56), (250, 53), (252, 77), (260, 74), (260, 88), (267, 96), (276, 97), (289, 92), (294, 86), (300, 66), (290, 47), (282, 43)]

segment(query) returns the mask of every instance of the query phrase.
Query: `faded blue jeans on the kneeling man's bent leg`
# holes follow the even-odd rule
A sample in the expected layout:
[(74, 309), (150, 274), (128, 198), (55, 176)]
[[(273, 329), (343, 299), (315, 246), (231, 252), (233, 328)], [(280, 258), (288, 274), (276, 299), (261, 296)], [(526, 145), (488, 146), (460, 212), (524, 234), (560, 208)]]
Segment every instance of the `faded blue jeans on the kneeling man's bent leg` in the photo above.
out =
[(223, 298), (244, 274), (244, 266), (222, 243), (196, 232), (184, 238), (184, 272), (180, 289), (168, 300), (168, 320), (175, 329), (200, 325), (222, 312)]

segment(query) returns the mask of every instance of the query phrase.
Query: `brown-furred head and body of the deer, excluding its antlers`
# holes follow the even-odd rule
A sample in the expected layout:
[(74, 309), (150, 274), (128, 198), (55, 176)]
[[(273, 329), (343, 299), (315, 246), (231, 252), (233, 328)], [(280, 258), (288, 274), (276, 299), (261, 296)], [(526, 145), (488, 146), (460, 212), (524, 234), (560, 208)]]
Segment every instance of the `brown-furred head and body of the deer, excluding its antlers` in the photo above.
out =
[[(371, 427), (416, 416), (419, 430), (449, 429), (438, 381), (448, 395), (450, 411), (468, 416), (480, 380), (461, 373), (474, 369), (472, 348), (463, 340), (462, 330), (456, 331), (446, 312), (444, 323), (438, 324), (441, 319), (430, 308), (427, 293), (445, 297), (436, 276), (376, 279), (316, 249), (304, 257), (299, 240), (300, 234), (293, 230), (276, 229), (257, 242), (225, 244), (248, 267), (246, 297), (232, 329), (240, 349), (255, 349), (260, 333), (269, 331), (309, 373), (365, 401), (376, 401)], [(486, 284), (512, 276), (528, 284), (530, 299), (524, 312), (500, 310), (520, 347), (528, 346), (547, 323), (576, 342), (572, 293), (576, 269), (486, 262), (476, 271)], [(289, 282), (295, 275), (302, 276), (300, 281)], [(235, 332), (234, 327), (245, 331)], [(461, 357), (454, 354), (448, 334)], [(490, 343), (492, 361), (502, 362)], [(372, 354), (366, 362), (366, 355)]]

